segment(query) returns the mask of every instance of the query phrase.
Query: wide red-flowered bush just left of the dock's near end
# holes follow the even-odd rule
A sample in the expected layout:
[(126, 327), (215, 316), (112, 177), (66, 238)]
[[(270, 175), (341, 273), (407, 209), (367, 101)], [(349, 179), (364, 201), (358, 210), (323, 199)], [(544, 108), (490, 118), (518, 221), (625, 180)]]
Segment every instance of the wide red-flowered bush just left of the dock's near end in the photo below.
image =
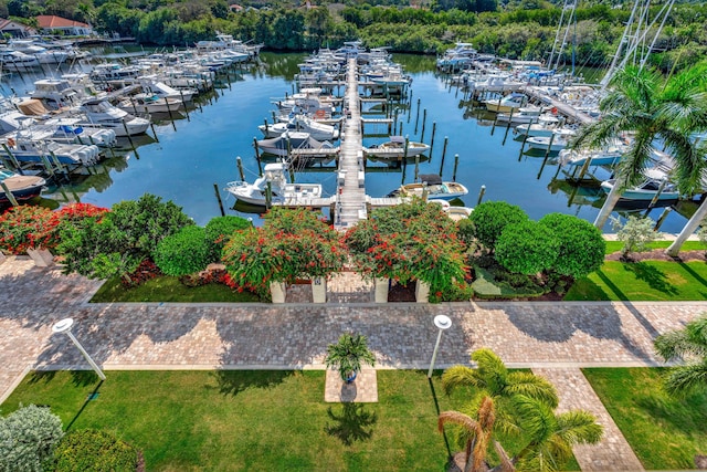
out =
[(346, 260), (339, 234), (306, 209), (274, 208), (262, 228), (235, 233), (223, 249), (231, 279), (257, 293), (271, 282), (327, 276)]

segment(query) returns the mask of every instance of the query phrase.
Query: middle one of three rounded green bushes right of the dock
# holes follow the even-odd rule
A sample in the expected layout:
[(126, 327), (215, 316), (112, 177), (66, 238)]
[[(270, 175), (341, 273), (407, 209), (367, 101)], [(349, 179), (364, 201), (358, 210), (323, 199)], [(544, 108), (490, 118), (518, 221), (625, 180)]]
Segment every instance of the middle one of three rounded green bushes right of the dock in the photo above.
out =
[(530, 220), (507, 225), (496, 242), (498, 262), (527, 275), (552, 268), (557, 253), (558, 241), (552, 231)]

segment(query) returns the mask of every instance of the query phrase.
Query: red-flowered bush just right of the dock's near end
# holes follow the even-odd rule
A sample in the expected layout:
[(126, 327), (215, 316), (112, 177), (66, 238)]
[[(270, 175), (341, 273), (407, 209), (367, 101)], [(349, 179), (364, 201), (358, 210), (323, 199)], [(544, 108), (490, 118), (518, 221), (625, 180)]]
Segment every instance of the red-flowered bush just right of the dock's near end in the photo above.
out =
[(357, 270), (402, 284), (421, 280), (435, 300), (466, 286), (464, 244), (440, 206), (415, 199), (380, 208), (350, 229), (345, 239)]

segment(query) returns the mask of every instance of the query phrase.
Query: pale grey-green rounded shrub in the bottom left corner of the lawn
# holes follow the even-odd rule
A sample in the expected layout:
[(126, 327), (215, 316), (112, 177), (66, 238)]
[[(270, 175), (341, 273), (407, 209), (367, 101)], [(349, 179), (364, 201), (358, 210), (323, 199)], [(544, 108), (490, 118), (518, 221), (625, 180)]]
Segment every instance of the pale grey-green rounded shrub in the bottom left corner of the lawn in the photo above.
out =
[(0, 470), (46, 470), (63, 436), (62, 420), (45, 407), (30, 405), (0, 417)]

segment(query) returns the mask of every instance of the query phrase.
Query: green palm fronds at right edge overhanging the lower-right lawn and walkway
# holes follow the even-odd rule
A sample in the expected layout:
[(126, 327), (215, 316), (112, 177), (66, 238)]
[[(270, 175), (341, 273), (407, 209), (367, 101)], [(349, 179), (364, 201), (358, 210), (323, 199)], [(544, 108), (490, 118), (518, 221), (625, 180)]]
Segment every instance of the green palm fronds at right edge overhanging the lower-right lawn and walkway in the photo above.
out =
[(685, 365), (672, 369), (666, 377), (668, 394), (686, 396), (707, 388), (707, 316), (688, 323), (683, 329), (656, 337), (653, 344), (665, 360), (687, 359)]

